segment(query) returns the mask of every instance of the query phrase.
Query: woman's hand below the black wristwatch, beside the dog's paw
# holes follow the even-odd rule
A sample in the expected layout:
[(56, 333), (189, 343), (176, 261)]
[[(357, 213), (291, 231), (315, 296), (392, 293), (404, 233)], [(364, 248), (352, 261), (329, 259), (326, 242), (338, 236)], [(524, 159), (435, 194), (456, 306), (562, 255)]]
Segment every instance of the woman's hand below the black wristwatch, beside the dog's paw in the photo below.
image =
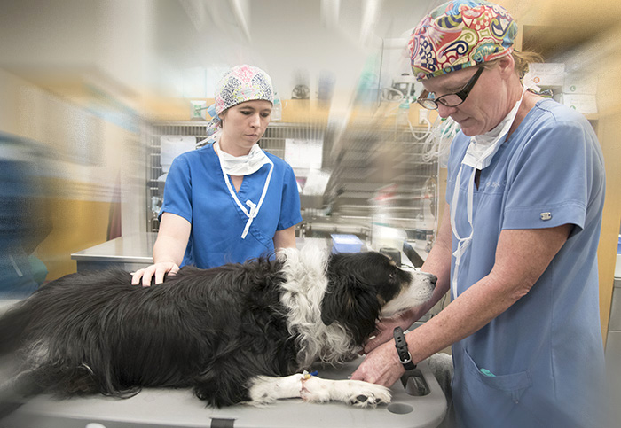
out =
[(351, 375), (352, 380), (364, 380), (372, 384), (384, 385), (389, 388), (395, 385), (405, 369), (397, 355), (395, 342), (389, 341), (376, 347), (358, 369)]

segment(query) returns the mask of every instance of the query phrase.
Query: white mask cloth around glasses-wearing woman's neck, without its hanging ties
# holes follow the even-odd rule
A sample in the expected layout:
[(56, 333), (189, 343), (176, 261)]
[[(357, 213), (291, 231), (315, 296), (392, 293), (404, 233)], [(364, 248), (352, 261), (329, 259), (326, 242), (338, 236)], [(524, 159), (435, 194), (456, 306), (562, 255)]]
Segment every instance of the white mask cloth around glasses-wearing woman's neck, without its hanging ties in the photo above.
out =
[(491, 159), (505, 141), (507, 132), (509, 132), (511, 125), (513, 125), (515, 121), (526, 90), (527, 88), (522, 90), (522, 97), (520, 97), (507, 116), (505, 116), (495, 128), (485, 134), (470, 138), (470, 145), (468, 145), (466, 155), (461, 161), (462, 164), (476, 169), (483, 169), (490, 166)]

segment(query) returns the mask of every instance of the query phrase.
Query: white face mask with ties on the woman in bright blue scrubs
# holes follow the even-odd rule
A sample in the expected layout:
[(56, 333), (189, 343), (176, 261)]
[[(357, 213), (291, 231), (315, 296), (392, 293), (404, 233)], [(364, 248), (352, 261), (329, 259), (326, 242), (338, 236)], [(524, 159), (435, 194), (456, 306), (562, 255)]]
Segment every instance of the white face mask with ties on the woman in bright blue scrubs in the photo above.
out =
[[(226, 187), (229, 189), (229, 193), (237, 206), (240, 207), (241, 211), (248, 217), (248, 222), (246, 222), (246, 227), (244, 231), (241, 233), (241, 238), (246, 239), (248, 235), (248, 230), (250, 229), (250, 225), (252, 224), (255, 217), (259, 214), (259, 210), (263, 205), (263, 199), (265, 198), (265, 194), (267, 193), (267, 188), (270, 186), (271, 173), (274, 171), (274, 163), (267, 157), (265, 152), (261, 150), (258, 145), (253, 145), (252, 149), (246, 156), (232, 156), (227, 152), (223, 152), (220, 149), (220, 145), (216, 141), (214, 143), (216, 145), (216, 150), (218, 153), (218, 158), (220, 159), (220, 167), (222, 167), (222, 174), (224, 175), (224, 183), (226, 183)], [(258, 151), (258, 152), (257, 152)], [(237, 161), (240, 158), (241, 161)], [(229, 180), (229, 175), (249, 175), (258, 171), (263, 165), (270, 164), (270, 172), (265, 179), (265, 185), (263, 186), (263, 192), (261, 193), (261, 198), (259, 199), (259, 203), (255, 204), (252, 200), (248, 199), (246, 201), (246, 206), (244, 206), (240, 202), (240, 198), (237, 197), (237, 193), (232, 188), (231, 181)]]

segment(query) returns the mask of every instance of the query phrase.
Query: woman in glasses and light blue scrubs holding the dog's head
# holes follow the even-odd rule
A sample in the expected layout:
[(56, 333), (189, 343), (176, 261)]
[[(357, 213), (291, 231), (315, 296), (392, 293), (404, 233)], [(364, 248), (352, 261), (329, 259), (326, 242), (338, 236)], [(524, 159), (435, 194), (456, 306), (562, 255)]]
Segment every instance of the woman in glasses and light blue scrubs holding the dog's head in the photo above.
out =
[(516, 33), (503, 8), (468, 0), (438, 7), (413, 31), (419, 103), (461, 127), (444, 219), (422, 266), (438, 277), (435, 299), (383, 323), (352, 378), (395, 383), (404, 367), (392, 328), (450, 290), (451, 303), (405, 339), (413, 362), (452, 345), (459, 426), (607, 426), (601, 150), (584, 116), (523, 87)]

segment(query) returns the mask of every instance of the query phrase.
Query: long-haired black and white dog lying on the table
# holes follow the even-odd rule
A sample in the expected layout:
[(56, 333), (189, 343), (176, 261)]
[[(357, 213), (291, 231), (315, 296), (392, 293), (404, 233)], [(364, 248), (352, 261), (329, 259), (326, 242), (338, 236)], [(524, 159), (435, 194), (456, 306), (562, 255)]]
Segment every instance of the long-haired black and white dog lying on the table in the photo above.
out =
[(390, 401), (388, 389), (302, 371), (355, 356), (380, 316), (420, 305), (435, 282), (381, 253), (311, 247), (182, 268), (152, 287), (122, 271), (78, 273), (0, 318), (0, 354), (18, 361), (22, 393), (193, 387), (216, 406), (289, 397), (373, 406)]

